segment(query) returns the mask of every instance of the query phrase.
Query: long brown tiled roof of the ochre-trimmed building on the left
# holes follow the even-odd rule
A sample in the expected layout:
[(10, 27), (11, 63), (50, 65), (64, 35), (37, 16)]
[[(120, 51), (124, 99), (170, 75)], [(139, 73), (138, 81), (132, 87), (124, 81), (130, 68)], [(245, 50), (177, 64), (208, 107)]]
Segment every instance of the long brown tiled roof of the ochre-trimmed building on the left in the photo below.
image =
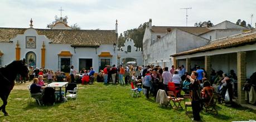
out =
[[(0, 42), (10, 42), (17, 34), (23, 34), (27, 28), (0, 28)], [(67, 29), (36, 29), (56, 44), (86, 47), (100, 44), (117, 43), (115, 30), (67, 30)]]

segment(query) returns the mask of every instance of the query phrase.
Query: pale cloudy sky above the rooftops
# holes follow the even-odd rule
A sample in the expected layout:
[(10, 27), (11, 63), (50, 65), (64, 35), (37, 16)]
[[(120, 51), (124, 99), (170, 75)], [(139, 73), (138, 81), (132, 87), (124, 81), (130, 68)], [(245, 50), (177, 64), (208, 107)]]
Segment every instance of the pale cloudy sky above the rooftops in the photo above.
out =
[(47, 24), (67, 16), (68, 25), (77, 23), (81, 29), (115, 29), (118, 33), (137, 28), (152, 19), (152, 26), (187, 26), (196, 22), (223, 21), (235, 23), (238, 19), (256, 23), (255, 0), (0, 0), (0, 27), (28, 28), (30, 19), (34, 28), (46, 28)]

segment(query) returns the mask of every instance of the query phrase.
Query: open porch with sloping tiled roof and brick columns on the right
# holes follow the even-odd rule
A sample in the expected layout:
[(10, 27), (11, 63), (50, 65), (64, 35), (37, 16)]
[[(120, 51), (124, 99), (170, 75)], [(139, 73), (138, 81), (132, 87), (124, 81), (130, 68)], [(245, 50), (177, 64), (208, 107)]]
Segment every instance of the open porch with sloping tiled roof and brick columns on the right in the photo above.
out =
[(207, 78), (210, 78), (211, 70), (222, 70), (229, 73), (231, 69), (238, 77), (238, 99), (240, 104), (245, 104), (244, 83), (256, 72), (256, 30), (232, 35), (225, 38), (212, 40), (209, 44), (199, 48), (171, 55), (175, 59), (175, 65), (185, 60), (186, 69), (193, 66), (195, 60), (203, 64)]

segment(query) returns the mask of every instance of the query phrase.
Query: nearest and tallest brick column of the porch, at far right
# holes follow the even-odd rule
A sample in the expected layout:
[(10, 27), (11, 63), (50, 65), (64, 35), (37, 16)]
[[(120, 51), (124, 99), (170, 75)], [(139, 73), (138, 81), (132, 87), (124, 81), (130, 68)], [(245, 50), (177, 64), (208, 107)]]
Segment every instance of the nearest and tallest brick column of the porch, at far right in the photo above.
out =
[(245, 104), (243, 86), (246, 81), (246, 52), (237, 53), (238, 68), (238, 103)]

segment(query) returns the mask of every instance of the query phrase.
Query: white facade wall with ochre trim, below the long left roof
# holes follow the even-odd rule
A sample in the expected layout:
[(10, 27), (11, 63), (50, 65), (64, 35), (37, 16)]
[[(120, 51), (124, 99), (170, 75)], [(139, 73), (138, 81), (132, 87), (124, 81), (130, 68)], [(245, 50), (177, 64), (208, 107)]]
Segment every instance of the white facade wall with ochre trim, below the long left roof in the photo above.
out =
[[(36, 49), (26, 49), (26, 36), (36, 36)], [(102, 44), (99, 48), (97, 48), (97, 54), (95, 48), (76, 48), (74, 50), (70, 44), (49, 44), (50, 40), (45, 37), (45, 35), (38, 35), (36, 30), (33, 28), (28, 28), (24, 34), (17, 35), (15, 38), (11, 39), (13, 43), (0, 43), (0, 50), (4, 55), (1, 57), (2, 66), (11, 63), (16, 59), (16, 43), (17, 40), (20, 44), (21, 48), (21, 59), (26, 57), (27, 52), (36, 53), (36, 67), (41, 68), (41, 48), (43, 42), (45, 42), (45, 68), (52, 70), (59, 70), (58, 68), (58, 54), (61, 51), (69, 51), (72, 56), (72, 64), (75, 69), (79, 68), (79, 58), (92, 58), (93, 59), (93, 67), (95, 72), (98, 72), (99, 69), (99, 54), (101, 52), (110, 52), (113, 55), (111, 62), (117, 65), (117, 49), (114, 48), (112, 44)], [(75, 53), (76, 51), (76, 53)]]

